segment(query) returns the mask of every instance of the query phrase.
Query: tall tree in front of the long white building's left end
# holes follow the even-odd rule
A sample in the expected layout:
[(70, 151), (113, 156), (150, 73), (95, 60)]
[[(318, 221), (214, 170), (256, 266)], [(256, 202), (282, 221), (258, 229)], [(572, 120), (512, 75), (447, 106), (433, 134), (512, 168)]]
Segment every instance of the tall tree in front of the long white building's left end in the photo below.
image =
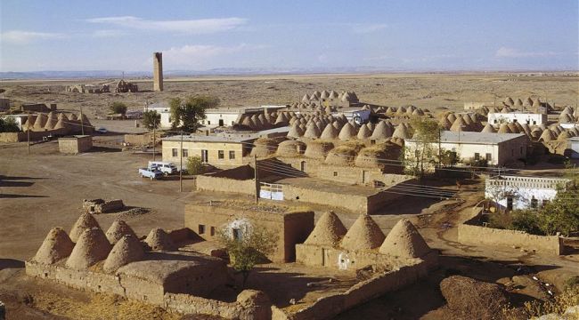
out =
[[(420, 116), (411, 120), (414, 148), (404, 147), (402, 160), (408, 174), (423, 178), (429, 164), (438, 156), (437, 143), (440, 142), (441, 126), (436, 120)], [(439, 160), (440, 161), (440, 160)]]

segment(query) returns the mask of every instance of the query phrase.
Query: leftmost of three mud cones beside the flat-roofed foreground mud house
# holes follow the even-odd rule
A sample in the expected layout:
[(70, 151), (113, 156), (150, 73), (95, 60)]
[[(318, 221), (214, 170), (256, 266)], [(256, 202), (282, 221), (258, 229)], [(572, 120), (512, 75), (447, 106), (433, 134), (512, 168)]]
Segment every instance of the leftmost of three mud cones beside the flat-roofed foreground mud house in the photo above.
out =
[(340, 239), (346, 235), (346, 227), (334, 212), (323, 213), (315, 224), (314, 230), (307, 237), (304, 244), (329, 245), (335, 247)]

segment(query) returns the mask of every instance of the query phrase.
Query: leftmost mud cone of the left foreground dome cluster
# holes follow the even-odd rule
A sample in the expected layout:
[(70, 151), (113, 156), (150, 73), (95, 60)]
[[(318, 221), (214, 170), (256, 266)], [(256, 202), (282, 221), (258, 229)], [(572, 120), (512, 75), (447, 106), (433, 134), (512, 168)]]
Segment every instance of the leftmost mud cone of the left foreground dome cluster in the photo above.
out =
[(69, 235), (62, 228), (52, 228), (32, 260), (44, 264), (53, 264), (68, 257), (74, 245)]

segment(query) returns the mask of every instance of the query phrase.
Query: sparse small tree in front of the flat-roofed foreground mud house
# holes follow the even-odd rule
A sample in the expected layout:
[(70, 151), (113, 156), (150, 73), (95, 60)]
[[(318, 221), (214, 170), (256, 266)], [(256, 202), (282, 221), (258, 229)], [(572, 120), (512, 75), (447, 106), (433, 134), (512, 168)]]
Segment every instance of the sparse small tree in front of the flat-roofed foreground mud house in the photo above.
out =
[[(229, 253), (232, 268), (243, 276), (242, 287), (248, 281), (249, 273), (265, 256), (275, 249), (278, 236), (269, 228), (249, 220), (236, 220), (218, 232), (218, 239)], [(241, 223), (240, 223), (241, 222)]]

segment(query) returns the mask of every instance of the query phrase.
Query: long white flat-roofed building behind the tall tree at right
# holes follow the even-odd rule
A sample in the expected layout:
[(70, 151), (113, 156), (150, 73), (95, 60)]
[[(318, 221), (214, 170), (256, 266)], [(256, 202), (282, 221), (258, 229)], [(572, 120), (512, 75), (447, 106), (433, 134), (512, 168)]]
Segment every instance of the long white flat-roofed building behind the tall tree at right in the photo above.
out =
[[(414, 152), (418, 143), (420, 142), (412, 139), (405, 140), (406, 152)], [(456, 152), (461, 161), (486, 159), (490, 165), (504, 165), (526, 158), (528, 143), (525, 133), (444, 131), (440, 135), (440, 148)], [(437, 142), (432, 143), (435, 154), (438, 153), (438, 145)]]

